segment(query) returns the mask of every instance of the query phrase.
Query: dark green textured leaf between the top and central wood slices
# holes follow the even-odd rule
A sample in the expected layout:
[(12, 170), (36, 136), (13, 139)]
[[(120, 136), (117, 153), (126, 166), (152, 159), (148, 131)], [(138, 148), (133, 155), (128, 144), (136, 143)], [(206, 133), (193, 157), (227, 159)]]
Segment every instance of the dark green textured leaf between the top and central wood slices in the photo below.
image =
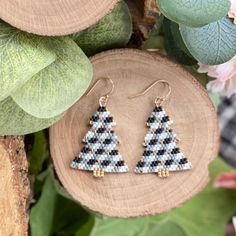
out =
[(91, 56), (97, 52), (125, 46), (132, 33), (132, 21), (124, 1), (95, 26), (72, 37), (82, 50)]

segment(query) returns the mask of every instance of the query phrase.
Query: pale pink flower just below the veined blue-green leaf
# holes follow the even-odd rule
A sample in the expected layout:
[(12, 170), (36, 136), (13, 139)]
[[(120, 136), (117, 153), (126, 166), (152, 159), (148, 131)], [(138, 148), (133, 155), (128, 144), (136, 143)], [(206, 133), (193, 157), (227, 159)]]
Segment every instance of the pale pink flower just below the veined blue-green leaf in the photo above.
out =
[(207, 84), (209, 91), (225, 96), (236, 93), (236, 56), (220, 65), (211, 66), (199, 63), (198, 72), (207, 73), (208, 76), (216, 78)]

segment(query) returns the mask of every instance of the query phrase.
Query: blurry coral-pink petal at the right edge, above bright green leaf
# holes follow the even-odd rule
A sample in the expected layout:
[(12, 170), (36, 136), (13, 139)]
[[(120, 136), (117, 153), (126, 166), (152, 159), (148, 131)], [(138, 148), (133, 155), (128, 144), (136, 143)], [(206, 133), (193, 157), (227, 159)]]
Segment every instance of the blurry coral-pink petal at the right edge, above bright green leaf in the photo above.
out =
[(236, 172), (220, 174), (215, 180), (214, 187), (236, 189)]

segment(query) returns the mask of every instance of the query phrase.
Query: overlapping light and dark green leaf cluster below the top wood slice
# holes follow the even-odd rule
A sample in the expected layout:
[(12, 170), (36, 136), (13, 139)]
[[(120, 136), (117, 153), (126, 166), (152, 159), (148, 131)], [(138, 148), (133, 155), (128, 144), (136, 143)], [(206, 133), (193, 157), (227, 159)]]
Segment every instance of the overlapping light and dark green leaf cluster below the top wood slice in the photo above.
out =
[(131, 32), (124, 2), (97, 25), (73, 36), (36, 36), (1, 21), (0, 134), (32, 133), (58, 121), (92, 80), (87, 56), (124, 46)]

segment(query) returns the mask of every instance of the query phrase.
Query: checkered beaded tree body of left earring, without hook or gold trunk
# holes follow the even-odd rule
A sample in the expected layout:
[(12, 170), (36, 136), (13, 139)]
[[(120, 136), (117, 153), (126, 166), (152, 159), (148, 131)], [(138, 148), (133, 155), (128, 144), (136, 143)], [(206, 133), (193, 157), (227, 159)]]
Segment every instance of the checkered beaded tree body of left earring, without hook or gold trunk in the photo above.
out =
[(91, 129), (83, 139), (80, 154), (71, 162), (74, 169), (104, 172), (127, 172), (128, 166), (117, 150), (118, 137), (112, 130), (113, 117), (105, 106), (100, 106), (90, 119)]

